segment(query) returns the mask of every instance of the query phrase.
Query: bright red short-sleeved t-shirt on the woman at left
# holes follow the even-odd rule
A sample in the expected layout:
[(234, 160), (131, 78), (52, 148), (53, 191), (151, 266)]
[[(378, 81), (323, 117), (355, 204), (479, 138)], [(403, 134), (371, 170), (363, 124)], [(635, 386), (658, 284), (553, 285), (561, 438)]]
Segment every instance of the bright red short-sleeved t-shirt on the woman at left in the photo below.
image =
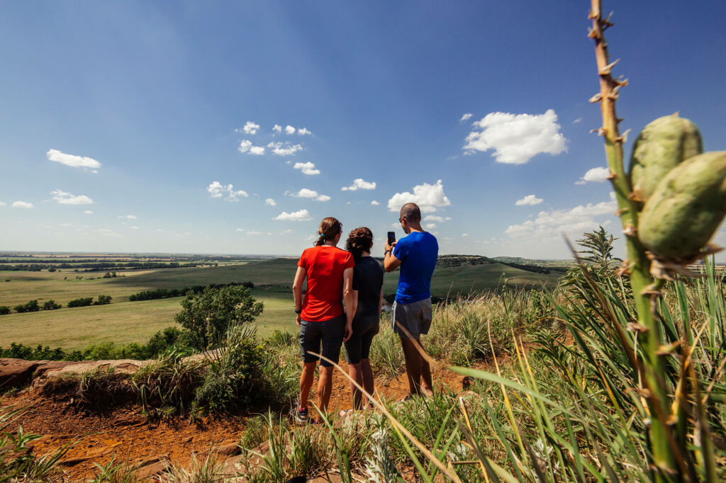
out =
[(343, 315), (343, 271), (354, 265), (351, 252), (338, 247), (306, 249), (298, 261), (308, 278), (301, 318), (321, 322)]

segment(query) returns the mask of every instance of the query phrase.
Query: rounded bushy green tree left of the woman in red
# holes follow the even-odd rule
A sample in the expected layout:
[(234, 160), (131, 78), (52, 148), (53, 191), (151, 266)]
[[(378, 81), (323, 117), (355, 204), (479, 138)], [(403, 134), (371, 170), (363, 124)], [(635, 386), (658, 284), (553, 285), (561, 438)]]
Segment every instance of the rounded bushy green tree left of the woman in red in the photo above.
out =
[(248, 288), (208, 286), (200, 294), (187, 292), (181, 301), (181, 312), (174, 320), (184, 328), (190, 347), (207, 350), (219, 345), (230, 326), (254, 321), (263, 308), (262, 302), (256, 302)]

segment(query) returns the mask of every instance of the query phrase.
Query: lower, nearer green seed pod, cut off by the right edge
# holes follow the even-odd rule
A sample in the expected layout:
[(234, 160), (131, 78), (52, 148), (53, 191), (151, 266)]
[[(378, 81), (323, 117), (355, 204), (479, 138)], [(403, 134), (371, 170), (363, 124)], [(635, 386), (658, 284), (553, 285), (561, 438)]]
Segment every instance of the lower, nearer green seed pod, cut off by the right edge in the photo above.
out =
[(726, 151), (677, 165), (658, 183), (638, 220), (638, 238), (660, 257), (698, 255), (726, 215)]

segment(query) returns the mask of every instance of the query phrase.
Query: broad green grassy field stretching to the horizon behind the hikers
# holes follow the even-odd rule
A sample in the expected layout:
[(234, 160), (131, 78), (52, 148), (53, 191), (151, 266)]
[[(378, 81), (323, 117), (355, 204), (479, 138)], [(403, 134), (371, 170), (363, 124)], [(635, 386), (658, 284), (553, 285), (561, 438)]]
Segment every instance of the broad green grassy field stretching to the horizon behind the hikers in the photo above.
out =
[[(62, 308), (0, 316), (0, 347), (10, 342), (43, 344), (65, 350), (81, 349), (99, 342), (147, 342), (152, 334), (174, 324), (181, 297), (129, 302), (129, 295), (142, 290), (175, 289), (195, 285), (253, 281), (253, 297), (264, 302), (258, 318), (262, 336), (274, 329), (294, 332), (292, 281), (297, 260), (277, 258), (204, 268), (164, 268), (131, 271), (118, 278), (100, 278), (102, 272), (0, 271), (0, 305), (13, 307), (28, 300), (42, 303), (53, 299), (62, 305), (78, 297), (110, 295), (110, 305)], [(76, 279), (76, 276), (83, 277)], [(64, 277), (67, 279), (64, 280)], [(9, 279), (9, 281), (5, 281)], [(555, 284), (558, 274), (541, 274), (501, 263), (446, 266), (436, 269), (432, 294), (439, 297), (472, 294), (483, 290)], [(387, 273), (384, 293), (396, 292), (398, 273)]]

